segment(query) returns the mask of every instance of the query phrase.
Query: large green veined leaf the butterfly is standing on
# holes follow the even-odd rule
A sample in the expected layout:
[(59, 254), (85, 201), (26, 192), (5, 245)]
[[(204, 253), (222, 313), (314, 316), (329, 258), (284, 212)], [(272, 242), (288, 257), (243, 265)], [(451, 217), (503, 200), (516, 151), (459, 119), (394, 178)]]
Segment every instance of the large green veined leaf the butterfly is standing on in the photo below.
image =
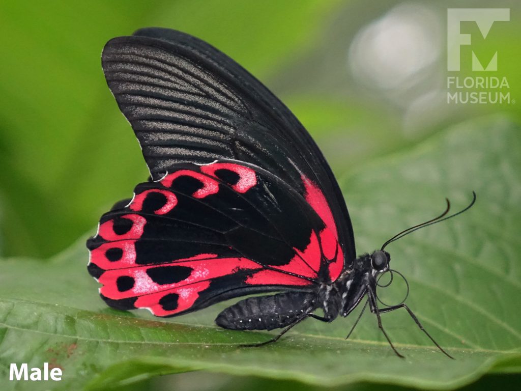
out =
[[(85, 270), (81, 239), (47, 261), (10, 259), (0, 275), (0, 378), (11, 362), (63, 369), (55, 384), (6, 382), (4, 389), (110, 389), (166, 373), (207, 370), (293, 380), (309, 385), (362, 381), (451, 389), (487, 372), (521, 369), (521, 148), (519, 127), (502, 117), (480, 118), (448, 129), (410, 151), (374, 161), (341, 180), (358, 252), (372, 251), (397, 231), (454, 210), (471, 191), (476, 205), (442, 224), (392, 243), (391, 265), (411, 286), (407, 304), (454, 357), (443, 356), (405, 311), (384, 314), (395, 357), (373, 314), (350, 340), (356, 317), (331, 324), (308, 320), (278, 343), (264, 332), (234, 332), (213, 325), (226, 303), (159, 320), (144, 311), (119, 312), (97, 297)], [(389, 295), (399, 301), (403, 284)], [(401, 288), (400, 288), (401, 287)], [(380, 292), (379, 292), (380, 294)]]

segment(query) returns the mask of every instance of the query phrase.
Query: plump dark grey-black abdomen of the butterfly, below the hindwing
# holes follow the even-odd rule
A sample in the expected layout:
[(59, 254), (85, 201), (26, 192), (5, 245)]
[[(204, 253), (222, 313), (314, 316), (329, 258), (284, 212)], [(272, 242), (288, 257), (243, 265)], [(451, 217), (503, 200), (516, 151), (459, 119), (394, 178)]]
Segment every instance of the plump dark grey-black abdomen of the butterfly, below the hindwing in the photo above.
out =
[(233, 330), (272, 330), (285, 327), (315, 308), (316, 295), (285, 292), (239, 301), (216, 318), (218, 326)]

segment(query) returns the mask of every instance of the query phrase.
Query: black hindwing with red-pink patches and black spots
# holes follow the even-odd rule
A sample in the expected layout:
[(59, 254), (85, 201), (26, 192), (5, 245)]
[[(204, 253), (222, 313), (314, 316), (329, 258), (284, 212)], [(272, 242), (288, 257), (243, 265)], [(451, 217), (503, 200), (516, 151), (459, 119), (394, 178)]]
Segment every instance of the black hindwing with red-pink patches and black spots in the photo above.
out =
[(110, 306), (157, 316), (330, 282), (343, 253), (324, 195), (305, 180), (302, 197), (242, 162), (179, 163), (102, 216), (89, 272)]

